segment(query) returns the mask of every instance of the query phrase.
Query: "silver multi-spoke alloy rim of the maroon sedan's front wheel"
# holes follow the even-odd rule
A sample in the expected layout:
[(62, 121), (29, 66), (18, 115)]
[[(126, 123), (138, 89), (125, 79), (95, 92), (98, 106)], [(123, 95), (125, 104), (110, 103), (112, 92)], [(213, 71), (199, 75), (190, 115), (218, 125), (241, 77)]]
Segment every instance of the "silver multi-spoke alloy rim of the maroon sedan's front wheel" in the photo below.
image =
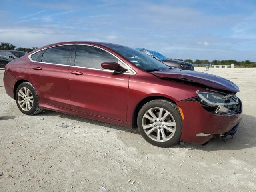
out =
[(176, 131), (174, 117), (168, 110), (160, 107), (150, 108), (145, 112), (142, 127), (146, 135), (157, 142), (170, 140)]

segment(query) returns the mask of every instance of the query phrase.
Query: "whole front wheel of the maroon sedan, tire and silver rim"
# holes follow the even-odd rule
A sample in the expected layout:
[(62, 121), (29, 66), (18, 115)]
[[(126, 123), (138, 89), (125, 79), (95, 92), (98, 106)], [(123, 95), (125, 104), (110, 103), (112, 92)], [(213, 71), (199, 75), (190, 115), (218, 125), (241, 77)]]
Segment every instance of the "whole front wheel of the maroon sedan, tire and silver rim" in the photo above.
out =
[(142, 137), (155, 146), (170, 147), (180, 140), (180, 111), (167, 100), (146, 103), (138, 113), (137, 124)]

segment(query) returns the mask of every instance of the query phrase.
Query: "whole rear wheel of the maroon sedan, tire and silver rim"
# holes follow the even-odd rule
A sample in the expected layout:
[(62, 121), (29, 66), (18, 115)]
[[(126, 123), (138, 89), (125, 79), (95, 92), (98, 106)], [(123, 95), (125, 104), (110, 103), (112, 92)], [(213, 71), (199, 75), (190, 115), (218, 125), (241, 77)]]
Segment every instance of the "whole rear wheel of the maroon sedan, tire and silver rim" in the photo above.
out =
[(43, 110), (39, 107), (36, 90), (29, 82), (24, 82), (18, 86), (15, 98), (18, 108), (26, 115), (38, 114)]

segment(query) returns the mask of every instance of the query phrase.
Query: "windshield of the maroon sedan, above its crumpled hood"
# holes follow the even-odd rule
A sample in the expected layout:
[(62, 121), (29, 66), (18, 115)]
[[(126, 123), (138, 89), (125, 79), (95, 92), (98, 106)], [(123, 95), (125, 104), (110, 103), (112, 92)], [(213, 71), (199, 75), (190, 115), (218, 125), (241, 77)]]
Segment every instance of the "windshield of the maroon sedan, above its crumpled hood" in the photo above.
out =
[(158, 71), (170, 68), (166, 64), (148, 56), (147, 54), (129, 47), (111, 46), (109, 48), (122, 55), (144, 71)]

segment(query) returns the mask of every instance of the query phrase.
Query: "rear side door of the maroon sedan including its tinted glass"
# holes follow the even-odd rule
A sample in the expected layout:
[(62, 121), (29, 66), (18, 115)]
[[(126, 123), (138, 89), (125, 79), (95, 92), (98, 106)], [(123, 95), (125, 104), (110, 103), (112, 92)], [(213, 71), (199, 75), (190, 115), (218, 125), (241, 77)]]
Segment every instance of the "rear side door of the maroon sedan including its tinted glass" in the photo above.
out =
[(30, 56), (28, 72), (41, 103), (70, 109), (68, 68), (74, 45), (54, 46)]

